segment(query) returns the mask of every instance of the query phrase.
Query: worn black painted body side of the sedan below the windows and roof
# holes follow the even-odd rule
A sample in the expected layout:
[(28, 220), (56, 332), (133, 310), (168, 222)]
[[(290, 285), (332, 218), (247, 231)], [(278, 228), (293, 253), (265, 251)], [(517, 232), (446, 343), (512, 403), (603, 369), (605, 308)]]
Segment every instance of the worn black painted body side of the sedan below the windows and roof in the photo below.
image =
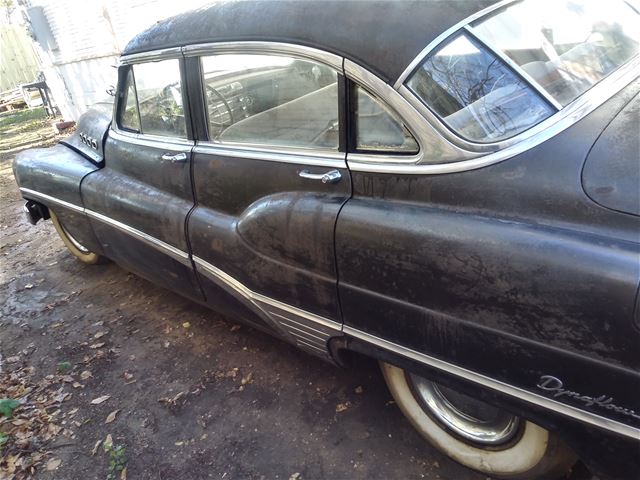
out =
[[(640, 218), (598, 201), (604, 169), (584, 181), (603, 131), (637, 109), (640, 82), (504, 161), (384, 173), (349, 169), (346, 151), (283, 162), (207, 150), (197, 56), (175, 58), (188, 91), (187, 162), (156, 168), (175, 144), (123, 140), (92, 111), (65, 144), (16, 159), (23, 196), (154, 282), (301, 346), (283, 328), (298, 325), (307, 351), (326, 344), (321, 356), (338, 363), (349, 352), (392, 361), (557, 432), (611, 478), (640, 471)], [(328, 189), (297, 178), (328, 165), (343, 179)], [(576, 395), (546, 391), (545, 376)]]

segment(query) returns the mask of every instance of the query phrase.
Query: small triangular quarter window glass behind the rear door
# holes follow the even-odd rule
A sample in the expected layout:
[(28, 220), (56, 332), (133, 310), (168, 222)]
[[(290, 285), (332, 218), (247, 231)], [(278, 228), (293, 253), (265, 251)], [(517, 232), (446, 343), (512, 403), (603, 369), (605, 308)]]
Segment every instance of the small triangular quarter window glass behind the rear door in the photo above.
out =
[(415, 153), (418, 143), (391, 110), (365, 89), (356, 86), (356, 148)]

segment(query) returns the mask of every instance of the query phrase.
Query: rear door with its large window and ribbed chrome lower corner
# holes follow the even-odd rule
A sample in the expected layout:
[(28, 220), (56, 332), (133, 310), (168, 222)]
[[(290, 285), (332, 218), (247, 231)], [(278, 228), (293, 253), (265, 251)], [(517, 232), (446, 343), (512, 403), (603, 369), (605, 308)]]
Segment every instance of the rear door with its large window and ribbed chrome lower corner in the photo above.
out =
[(340, 63), (264, 52), (191, 61), (208, 128), (188, 232), (207, 301), (219, 308), (230, 293), (255, 323), (325, 354), (341, 328), (334, 229), (351, 194)]

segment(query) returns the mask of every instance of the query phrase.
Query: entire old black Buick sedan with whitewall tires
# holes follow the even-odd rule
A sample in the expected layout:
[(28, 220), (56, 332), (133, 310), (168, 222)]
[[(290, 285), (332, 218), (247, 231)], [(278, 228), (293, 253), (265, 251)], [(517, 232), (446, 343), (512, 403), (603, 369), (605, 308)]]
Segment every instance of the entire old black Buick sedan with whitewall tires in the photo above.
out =
[(455, 461), (640, 478), (640, 80), (624, 0), (221, 2), (19, 156), (32, 222), (348, 366)]

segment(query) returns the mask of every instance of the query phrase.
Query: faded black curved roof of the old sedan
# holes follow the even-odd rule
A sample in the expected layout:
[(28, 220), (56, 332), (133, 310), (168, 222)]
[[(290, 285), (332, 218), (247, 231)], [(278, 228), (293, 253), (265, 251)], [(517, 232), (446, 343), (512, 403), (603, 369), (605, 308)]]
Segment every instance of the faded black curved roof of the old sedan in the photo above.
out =
[(123, 54), (223, 41), (287, 42), (368, 66), (389, 83), (442, 32), (496, 0), (222, 1), (157, 23)]

